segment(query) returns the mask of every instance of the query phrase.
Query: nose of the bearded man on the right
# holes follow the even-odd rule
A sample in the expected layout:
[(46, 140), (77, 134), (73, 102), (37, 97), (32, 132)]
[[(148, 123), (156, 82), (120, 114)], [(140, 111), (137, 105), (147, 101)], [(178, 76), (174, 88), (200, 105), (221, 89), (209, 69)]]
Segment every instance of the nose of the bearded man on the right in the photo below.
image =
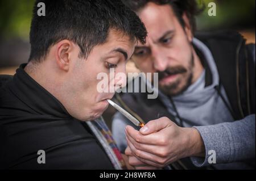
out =
[(153, 56), (153, 66), (154, 66), (154, 69), (156, 71), (164, 71), (166, 70), (167, 66), (168, 66), (168, 61), (167, 61), (167, 57), (164, 56), (163, 53), (161, 52), (153, 52), (152, 53), (152, 56)]

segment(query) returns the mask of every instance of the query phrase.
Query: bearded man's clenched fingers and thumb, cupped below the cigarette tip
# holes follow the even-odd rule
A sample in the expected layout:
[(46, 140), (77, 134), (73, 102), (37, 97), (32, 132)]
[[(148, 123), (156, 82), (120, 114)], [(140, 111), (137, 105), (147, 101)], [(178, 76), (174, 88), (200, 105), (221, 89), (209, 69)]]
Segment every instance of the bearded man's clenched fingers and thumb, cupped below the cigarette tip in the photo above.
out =
[[(166, 129), (165, 129), (166, 128)], [(170, 153), (170, 138), (174, 133), (175, 123), (167, 117), (148, 122), (140, 131), (127, 126), (125, 129), (128, 148), (126, 155), (130, 155), (131, 163), (136, 169), (143, 169), (147, 164), (162, 168), (176, 161), (176, 152)], [(139, 161), (138, 161), (139, 160)], [(135, 166), (136, 165), (136, 166)], [(144, 167), (146, 168), (146, 167)]]

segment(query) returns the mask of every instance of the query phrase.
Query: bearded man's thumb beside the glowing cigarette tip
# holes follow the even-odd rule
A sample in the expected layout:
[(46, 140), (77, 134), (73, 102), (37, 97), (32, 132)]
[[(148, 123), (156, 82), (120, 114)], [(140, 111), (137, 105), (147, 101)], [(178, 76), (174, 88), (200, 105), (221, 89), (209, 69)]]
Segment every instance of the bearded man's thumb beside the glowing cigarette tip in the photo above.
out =
[(144, 127), (139, 129), (139, 132), (141, 132), (142, 134), (151, 134), (154, 132), (158, 132), (166, 127), (170, 127), (172, 124), (173, 122), (168, 119), (168, 117), (161, 117), (159, 119), (149, 121), (147, 124), (144, 125)]

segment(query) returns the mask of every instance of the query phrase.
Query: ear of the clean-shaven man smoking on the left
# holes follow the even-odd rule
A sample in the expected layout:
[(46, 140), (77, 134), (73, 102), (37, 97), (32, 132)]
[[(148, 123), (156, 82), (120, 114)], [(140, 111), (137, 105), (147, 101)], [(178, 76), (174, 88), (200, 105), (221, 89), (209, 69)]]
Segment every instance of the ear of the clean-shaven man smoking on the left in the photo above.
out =
[(61, 40), (56, 44), (55, 60), (61, 70), (68, 71), (73, 44), (69, 40)]

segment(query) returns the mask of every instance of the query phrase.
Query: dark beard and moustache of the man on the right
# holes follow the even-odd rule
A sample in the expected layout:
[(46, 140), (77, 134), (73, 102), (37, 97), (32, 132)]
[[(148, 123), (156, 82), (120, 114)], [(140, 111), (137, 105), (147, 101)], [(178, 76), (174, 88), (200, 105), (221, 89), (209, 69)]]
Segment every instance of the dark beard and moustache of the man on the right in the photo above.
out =
[(159, 81), (170, 75), (179, 74), (179, 78), (177, 78), (175, 82), (171, 82), (167, 85), (159, 85), (159, 89), (168, 96), (175, 96), (181, 94), (182, 92), (187, 90), (188, 87), (192, 84), (194, 66), (194, 56), (193, 54), (191, 54), (191, 60), (189, 61), (188, 68), (179, 65), (169, 67), (164, 71), (159, 71)]

